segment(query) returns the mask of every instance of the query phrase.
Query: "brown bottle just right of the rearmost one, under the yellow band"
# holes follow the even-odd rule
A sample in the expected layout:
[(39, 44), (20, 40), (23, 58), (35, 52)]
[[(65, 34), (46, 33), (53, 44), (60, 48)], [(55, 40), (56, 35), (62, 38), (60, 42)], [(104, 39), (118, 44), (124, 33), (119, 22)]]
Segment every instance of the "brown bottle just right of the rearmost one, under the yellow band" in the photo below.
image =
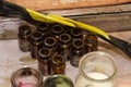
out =
[(59, 37), (60, 34), (64, 32), (64, 27), (60, 24), (52, 25), (51, 27), (51, 35), (55, 36), (56, 38)]

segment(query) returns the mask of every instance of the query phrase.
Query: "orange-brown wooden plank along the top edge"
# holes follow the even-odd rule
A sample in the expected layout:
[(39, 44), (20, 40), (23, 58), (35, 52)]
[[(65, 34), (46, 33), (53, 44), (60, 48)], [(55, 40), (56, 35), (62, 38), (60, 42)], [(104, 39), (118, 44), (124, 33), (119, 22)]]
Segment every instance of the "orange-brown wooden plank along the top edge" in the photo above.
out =
[(58, 10), (85, 7), (112, 5), (131, 0), (7, 0), (33, 10)]

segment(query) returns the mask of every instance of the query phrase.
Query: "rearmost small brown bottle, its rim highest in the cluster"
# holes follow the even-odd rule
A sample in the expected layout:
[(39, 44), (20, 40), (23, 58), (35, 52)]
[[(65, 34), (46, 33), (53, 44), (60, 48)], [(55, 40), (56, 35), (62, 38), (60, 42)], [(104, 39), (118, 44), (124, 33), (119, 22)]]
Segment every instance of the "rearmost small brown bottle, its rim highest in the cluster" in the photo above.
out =
[(37, 30), (40, 32), (44, 37), (47, 37), (48, 29), (49, 29), (49, 24), (48, 23), (38, 23), (37, 24)]

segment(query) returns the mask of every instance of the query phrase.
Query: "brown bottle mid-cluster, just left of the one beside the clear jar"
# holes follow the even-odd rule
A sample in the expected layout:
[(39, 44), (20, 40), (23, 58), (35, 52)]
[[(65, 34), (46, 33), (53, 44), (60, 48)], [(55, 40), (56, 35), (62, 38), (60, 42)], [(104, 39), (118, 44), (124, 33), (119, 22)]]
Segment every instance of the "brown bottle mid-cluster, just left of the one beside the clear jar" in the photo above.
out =
[(61, 34), (59, 36), (58, 52), (66, 58), (66, 61), (70, 59), (71, 36), (69, 34)]

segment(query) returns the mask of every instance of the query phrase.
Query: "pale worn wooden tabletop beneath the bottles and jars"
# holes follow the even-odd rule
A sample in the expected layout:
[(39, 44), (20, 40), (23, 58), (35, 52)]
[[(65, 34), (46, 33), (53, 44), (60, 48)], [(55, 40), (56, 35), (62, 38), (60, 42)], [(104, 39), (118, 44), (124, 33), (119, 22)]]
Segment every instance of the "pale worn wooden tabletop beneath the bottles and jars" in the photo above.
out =
[[(131, 42), (131, 30), (116, 32), (110, 35)], [(19, 49), (17, 39), (0, 40), (0, 87), (10, 87), (10, 77), (14, 70), (22, 66), (31, 66), (37, 70), (37, 61), (32, 60), (28, 52)], [(99, 39), (99, 51), (109, 53), (115, 58), (118, 65), (118, 87), (131, 87), (131, 60), (112, 45)], [(66, 74), (74, 82), (78, 72), (76, 67), (67, 62)]]

